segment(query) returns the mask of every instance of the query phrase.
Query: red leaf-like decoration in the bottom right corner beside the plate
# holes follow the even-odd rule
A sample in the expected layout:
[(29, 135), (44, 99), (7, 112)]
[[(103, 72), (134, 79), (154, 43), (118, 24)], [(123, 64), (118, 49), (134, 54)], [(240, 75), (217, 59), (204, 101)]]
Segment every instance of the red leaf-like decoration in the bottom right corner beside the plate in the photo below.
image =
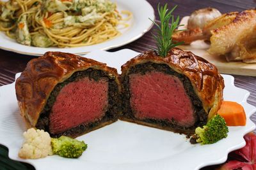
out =
[(256, 136), (252, 132), (244, 136), (246, 145), (228, 154), (228, 161), (218, 170), (256, 169)]

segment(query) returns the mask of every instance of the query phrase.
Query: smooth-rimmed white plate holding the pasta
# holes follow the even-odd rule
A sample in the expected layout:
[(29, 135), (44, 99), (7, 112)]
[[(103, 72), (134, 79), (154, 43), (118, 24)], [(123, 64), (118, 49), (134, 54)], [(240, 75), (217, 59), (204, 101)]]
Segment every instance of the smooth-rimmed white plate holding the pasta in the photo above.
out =
[[(110, 39), (109, 41), (104, 41), (103, 43), (90, 46), (80, 46), (73, 48), (40, 48), (35, 46), (21, 45), (17, 43), (14, 39), (8, 38), (8, 36), (6, 36), (4, 32), (0, 31), (0, 49), (16, 53), (22, 53), (26, 55), (42, 55), (48, 51), (60, 51), (82, 55), (88, 52), (92, 52), (93, 50), (109, 50), (111, 48), (126, 45), (140, 38), (141, 36), (143, 36), (143, 34), (145, 34), (145, 32), (150, 30), (153, 23), (148, 18), (154, 20), (155, 15), (154, 9), (146, 0), (111, 1), (117, 4), (118, 11), (129, 10), (133, 15), (132, 19), (127, 21), (129, 27), (127, 27), (126, 29), (121, 29), (121, 26), (118, 27), (118, 30), (122, 32), (122, 34), (114, 39)], [(124, 15), (124, 17), (126, 16)]]

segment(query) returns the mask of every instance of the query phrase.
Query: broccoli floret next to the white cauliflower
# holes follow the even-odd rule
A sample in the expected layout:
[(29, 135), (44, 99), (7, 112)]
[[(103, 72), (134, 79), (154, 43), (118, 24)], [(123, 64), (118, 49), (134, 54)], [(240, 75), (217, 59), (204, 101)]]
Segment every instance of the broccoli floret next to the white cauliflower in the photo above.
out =
[(67, 136), (52, 138), (52, 152), (66, 158), (78, 158), (86, 150), (87, 145), (84, 141), (78, 141)]

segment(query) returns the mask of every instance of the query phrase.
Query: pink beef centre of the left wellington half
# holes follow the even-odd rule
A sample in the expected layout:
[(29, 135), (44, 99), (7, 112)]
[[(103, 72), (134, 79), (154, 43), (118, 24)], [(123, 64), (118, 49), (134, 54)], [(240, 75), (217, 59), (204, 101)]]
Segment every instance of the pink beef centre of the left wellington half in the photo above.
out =
[(49, 131), (58, 134), (80, 124), (104, 117), (108, 106), (108, 79), (95, 81), (86, 77), (68, 83), (52, 106)]

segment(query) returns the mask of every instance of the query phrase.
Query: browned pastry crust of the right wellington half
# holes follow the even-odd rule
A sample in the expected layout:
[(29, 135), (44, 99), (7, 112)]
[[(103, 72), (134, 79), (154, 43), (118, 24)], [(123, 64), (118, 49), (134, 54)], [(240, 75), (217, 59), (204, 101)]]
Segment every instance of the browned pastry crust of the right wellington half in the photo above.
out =
[(134, 57), (122, 66), (122, 77), (129, 73), (131, 66), (145, 62), (166, 64), (177, 73), (187, 76), (202, 101), (205, 112), (208, 113), (208, 119), (216, 115), (223, 100), (224, 88), (223, 78), (216, 66), (191, 52), (172, 48), (164, 58), (159, 57), (154, 51), (141, 53)]

